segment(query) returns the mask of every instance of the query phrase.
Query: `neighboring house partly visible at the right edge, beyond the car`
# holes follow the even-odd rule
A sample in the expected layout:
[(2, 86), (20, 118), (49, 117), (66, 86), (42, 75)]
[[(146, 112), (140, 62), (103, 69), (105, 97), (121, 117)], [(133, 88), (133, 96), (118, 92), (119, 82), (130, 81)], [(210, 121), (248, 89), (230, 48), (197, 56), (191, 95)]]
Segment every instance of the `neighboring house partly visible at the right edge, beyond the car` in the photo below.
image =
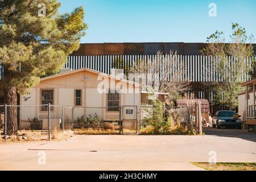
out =
[(256, 78), (241, 84), (246, 92), (238, 94), (238, 114), (244, 122), (244, 128), (256, 132)]

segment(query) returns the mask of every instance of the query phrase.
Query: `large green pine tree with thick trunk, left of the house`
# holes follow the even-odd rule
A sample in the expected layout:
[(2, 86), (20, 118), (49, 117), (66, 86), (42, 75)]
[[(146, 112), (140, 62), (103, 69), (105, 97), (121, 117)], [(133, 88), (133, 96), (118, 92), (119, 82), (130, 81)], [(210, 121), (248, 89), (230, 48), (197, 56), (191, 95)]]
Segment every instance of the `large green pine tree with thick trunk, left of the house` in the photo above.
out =
[[(59, 71), (65, 57), (79, 49), (85, 35), (84, 10), (59, 13), (56, 0), (0, 1), (1, 89), (7, 105), (17, 105), (17, 92), (25, 93), (39, 78)], [(7, 133), (16, 134), (16, 107), (7, 114)]]

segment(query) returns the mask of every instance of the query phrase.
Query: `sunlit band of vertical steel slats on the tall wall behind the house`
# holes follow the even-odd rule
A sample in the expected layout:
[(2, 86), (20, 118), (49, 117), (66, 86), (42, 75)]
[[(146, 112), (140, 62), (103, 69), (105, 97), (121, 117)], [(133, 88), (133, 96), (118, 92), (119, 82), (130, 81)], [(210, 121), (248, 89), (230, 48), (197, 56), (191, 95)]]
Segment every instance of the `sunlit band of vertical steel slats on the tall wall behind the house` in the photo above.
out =
[[(234, 81), (234, 71), (239, 65), (236, 65), (238, 57), (226, 56), (227, 67), (224, 68), (225, 76), (229, 76), (228, 81)], [(245, 58), (246, 67), (253, 67), (252, 60), (256, 57)], [(201, 55), (99, 55), (99, 56), (68, 56), (63, 68), (66, 69), (80, 69), (89, 68), (102, 73), (111, 73), (111, 69), (123, 69), (125, 75), (129, 73), (129, 68), (134, 67), (139, 60), (144, 60), (146, 63), (158, 63), (158, 70), (160, 72), (168, 72), (168, 78), (178, 77), (179, 81), (193, 81), (193, 82), (221, 82), (224, 79), (221, 73), (218, 72), (217, 64), (218, 57), (215, 56), (201, 56)], [(164, 61), (163, 61), (164, 60)], [(170, 67), (171, 70), (167, 70)], [(249, 73), (245, 73), (245, 69), (241, 69), (242, 74), (238, 81), (250, 80)], [(253, 70), (254, 73), (254, 70)], [(159, 75), (161, 78), (161, 74)]]

